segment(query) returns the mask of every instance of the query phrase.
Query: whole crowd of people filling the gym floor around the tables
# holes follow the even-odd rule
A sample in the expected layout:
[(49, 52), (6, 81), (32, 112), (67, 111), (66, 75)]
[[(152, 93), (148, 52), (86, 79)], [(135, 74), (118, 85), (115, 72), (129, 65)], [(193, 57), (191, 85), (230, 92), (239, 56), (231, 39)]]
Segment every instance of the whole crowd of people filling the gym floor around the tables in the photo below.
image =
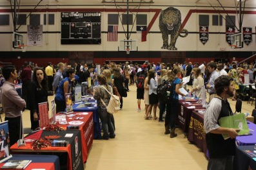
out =
[[(232, 152), (224, 154), (216, 152), (216, 145), (212, 140), (218, 140), (223, 147), (233, 146), (233, 139), (237, 136), (237, 131), (233, 129), (223, 129), (219, 126), (219, 117), (232, 115), (228, 98), (236, 99), (235, 90), (239, 89), (239, 83), (244, 83), (244, 74), (249, 74), (250, 82), (255, 82), (255, 64), (235, 63), (222, 64), (221, 62), (209, 62), (208, 64), (192, 62), (188, 64), (164, 64), (144, 62), (143, 64), (133, 64), (125, 62), (123, 64), (103, 64), (100, 71), (97, 71), (94, 64), (63, 64), (59, 63), (54, 67), (50, 62), (47, 67), (37, 67), (25, 62), (23, 69), (17, 73), (14, 65), (5, 65), (2, 69), (2, 76), (5, 83), (1, 83), (1, 103), (5, 111), (5, 120), (9, 121), (10, 144), (17, 142), (20, 138), (21, 112), (24, 108), (30, 110), (31, 129), (39, 127), (38, 103), (48, 102), (48, 95), (55, 94), (56, 112), (64, 112), (66, 108), (64, 94), (74, 92), (72, 88), (77, 83), (90, 81), (94, 90), (90, 93), (97, 99), (98, 113), (102, 121), (103, 139), (115, 138), (114, 117), (106, 111), (106, 105), (110, 101), (110, 94), (119, 95), (123, 109), (123, 98), (127, 97), (130, 91), (129, 86), (137, 87), (137, 112), (141, 112), (141, 100), (144, 100), (144, 119), (158, 120), (164, 122), (164, 134), (170, 137), (177, 137), (175, 133), (175, 120), (179, 106), (179, 95), (185, 96), (179, 89), (184, 85), (182, 77), (190, 76), (187, 83), (190, 94), (195, 98), (202, 98), (204, 88), (209, 94), (209, 105), (206, 108), (204, 119), (206, 129), (206, 142), (209, 147), (210, 158), (209, 167), (214, 164), (224, 164), (230, 162)], [(20, 97), (14, 89), (14, 84), (21, 81), (22, 96)], [(157, 96), (157, 87), (168, 81), (172, 87), (169, 101), (162, 101)], [(204, 88), (203, 88), (204, 87)], [(157, 117), (157, 107), (159, 107), (159, 117)], [(153, 117), (152, 117), (153, 111)], [(165, 119), (164, 119), (165, 117)], [(221, 133), (228, 133), (230, 140), (222, 140)], [(230, 143), (227, 143), (230, 142)], [(228, 146), (226, 146), (228, 144)], [(232, 149), (232, 148), (230, 148)], [(228, 156), (225, 161), (220, 161), (222, 156)], [(217, 163), (216, 163), (217, 162)], [(225, 163), (226, 164), (226, 163)], [(211, 169), (211, 168), (210, 168)]]

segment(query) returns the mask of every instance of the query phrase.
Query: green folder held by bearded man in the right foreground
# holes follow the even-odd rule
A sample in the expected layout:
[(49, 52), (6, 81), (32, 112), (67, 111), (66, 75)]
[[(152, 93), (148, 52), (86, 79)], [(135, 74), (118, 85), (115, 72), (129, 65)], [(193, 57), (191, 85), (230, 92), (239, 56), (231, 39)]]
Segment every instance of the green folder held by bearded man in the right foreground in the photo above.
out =
[[(219, 119), (219, 124), (222, 128), (234, 128), (239, 129), (240, 131), (237, 132), (239, 135), (246, 135), (250, 132), (246, 117), (244, 114), (236, 114), (236, 115), (230, 115), (226, 117), (221, 117)], [(228, 134), (222, 134), (222, 137), (224, 139), (228, 139)]]

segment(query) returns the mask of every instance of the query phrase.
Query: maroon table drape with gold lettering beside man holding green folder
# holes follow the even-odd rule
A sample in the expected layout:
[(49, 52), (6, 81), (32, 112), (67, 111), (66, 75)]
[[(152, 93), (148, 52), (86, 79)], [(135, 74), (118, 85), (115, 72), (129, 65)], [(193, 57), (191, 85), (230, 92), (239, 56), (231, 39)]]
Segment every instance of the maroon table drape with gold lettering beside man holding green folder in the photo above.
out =
[(188, 140), (193, 142), (208, 157), (204, 131), (204, 115), (200, 114), (198, 110), (192, 111), (190, 126), (188, 128)]

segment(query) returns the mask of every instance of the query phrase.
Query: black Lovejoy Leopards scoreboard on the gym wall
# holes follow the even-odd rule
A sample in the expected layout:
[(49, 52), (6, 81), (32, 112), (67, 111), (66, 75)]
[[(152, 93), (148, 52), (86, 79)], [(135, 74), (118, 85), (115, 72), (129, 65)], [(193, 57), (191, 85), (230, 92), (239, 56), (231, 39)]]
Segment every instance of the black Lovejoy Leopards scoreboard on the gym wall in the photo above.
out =
[(61, 12), (61, 44), (101, 44), (101, 12)]

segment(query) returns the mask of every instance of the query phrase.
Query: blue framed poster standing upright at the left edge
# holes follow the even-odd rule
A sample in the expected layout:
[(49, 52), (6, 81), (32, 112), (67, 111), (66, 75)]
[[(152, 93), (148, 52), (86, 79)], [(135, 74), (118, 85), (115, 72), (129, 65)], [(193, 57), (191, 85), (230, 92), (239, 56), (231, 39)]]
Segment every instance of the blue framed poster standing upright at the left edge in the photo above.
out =
[(12, 158), (10, 155), (10, 146), (8, 144), (9, 140), (9, 129), (8, 129), (8, 121), (0, 123), (0, 163)]

